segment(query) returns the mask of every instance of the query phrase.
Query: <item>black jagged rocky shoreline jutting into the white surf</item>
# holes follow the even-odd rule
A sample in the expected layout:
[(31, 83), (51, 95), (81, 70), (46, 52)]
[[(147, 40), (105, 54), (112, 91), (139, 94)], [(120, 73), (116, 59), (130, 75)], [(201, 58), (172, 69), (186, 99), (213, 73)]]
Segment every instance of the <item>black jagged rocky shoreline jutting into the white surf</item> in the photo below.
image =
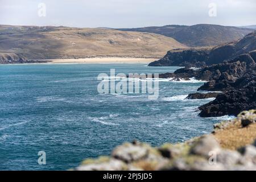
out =
[[(174, 73), (160, 74), (160, 78), (175, 80), (207, 81), (198, 91), (219, 91), (216, 99), (200, 106), (201, 117), (237, 115), (243, 110), (256, 108), (256, 51), (251, 51), (224, 63), (210, 65), (201, 69), (181, 68)], [(195, 93), (190, 97), (202, 99), (210, 96)]]

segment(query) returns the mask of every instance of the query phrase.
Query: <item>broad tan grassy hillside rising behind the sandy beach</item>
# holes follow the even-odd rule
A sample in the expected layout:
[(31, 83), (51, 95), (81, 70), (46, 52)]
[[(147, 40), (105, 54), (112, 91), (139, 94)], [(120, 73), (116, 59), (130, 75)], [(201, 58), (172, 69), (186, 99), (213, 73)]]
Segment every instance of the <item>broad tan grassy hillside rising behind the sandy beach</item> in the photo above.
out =
[(0, 58), (162, 57), (186, 48), (163, 35), (106, 28), (0, 26)]

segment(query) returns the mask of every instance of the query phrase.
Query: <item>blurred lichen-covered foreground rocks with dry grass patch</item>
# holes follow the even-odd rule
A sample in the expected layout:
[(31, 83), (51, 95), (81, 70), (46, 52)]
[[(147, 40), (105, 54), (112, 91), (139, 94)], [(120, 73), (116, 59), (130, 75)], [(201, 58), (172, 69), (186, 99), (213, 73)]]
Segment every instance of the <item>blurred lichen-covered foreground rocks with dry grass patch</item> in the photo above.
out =
[(86, 159), (76, 170), (256, 170), (256, 110), (218, 123), (212, 134), (151, 147), (133, 142), (112, 156)]

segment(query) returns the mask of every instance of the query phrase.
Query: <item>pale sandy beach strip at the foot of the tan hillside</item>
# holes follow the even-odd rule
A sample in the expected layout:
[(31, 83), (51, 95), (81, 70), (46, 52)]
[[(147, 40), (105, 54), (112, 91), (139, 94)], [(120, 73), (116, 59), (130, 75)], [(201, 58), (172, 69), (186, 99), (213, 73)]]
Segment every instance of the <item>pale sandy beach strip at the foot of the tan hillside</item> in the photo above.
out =
[(158, 59), (153, 58), (134, 58), (134, 57), (93, 57), (85, 59), (44, 59), (52, 64), (60, 63), (79, 63), (79, 64), (112, 64), (112, 63), (151, 63)]

